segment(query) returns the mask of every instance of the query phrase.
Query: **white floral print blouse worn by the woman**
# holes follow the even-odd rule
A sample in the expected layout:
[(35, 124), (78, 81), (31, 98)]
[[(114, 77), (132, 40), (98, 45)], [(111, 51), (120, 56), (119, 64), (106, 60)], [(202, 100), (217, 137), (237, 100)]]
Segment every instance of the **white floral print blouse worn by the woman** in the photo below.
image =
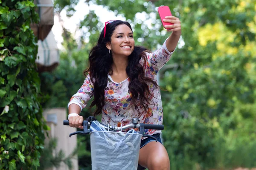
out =
[[(144, 62), (143, 57), (140, 60), (145, 69), (145, 75), (157, 81), (157, 72), (168, 62), (172, 52), (169, 52), (166, 48), (165, 41), (161, 48), (153, 53), (146, 53), (146, 56), (146, 62)], [(148, 104), (148, 111), (145, 111), (141, 106), (139, 107), (140, 112), (138, 112), (134, 105), (130, 104), (131, 93), (129, 92), (128, 84), (129, 78), (117, 83), (108, 75), (108, 85), (105, 88), (105, 106), (102, 108), (102, 123), (105, 125), (124, 126), (131, 124), (132, 118), (138, 118), (140, 123), (162, 125), (163, 107), (160, 89), (155, 85), (149, 86), (151, 94), (154, 95), (154, 97), (151, 97), (154, 103)], [(88, 75), (79, 91), (70, 99), (68, 106), (75, 103), (81, 109), (85, 108), (88, 100), (93, 96), (92, 85)], [(155, 133), (161, 133), (161, 130), (145, 130), (145, 134), (153, 135)]]

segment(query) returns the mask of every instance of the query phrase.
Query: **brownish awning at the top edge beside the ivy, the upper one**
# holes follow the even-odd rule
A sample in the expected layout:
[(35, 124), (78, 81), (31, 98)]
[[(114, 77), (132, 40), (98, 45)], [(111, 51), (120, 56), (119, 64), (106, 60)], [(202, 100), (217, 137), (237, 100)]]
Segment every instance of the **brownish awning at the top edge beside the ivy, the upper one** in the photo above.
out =
[(31, 29), (34, 31), (38, 40), (44, 40), (53, 26), (54, 11), (52, 0), (34, 0), (34, 3), (38, 6), (36, 12), (40, 17), (38, 24), (30, 24)]

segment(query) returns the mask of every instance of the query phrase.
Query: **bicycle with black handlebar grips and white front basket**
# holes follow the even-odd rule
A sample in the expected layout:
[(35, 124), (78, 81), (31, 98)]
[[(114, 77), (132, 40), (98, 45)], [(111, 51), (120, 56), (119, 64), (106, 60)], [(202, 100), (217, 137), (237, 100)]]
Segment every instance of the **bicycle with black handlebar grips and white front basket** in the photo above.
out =
[[(70, 133), (69, 136), (90, 134), (92, 170), (137, 170), (142, 137), (150, 137), (157, 142), (154, 136), (144, 134), (145, 129), (164, 129), (163, 125), (138, 124), (139, 121), (132, 118), (132, 124), (117, 127), (104, 125), (90, 116), (82, 123), (83, 131)], [(69, 121), (64, 120), (63, 125), (69, 125)], [(134, 130), (136, 128), (139, 132)], [(128, 129), (131, 130), (122, 132)]]

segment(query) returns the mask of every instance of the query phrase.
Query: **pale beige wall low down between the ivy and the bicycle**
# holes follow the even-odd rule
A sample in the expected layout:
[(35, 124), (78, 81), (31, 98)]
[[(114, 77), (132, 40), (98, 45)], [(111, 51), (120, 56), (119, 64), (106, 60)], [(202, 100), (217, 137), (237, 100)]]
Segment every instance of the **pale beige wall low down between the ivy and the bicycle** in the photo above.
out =
[[(63, 120), (67, 119), (66, 108), (50, 108), (43, 112), (44, 118), (47, 120), (47, 125), (51, 128), (49, 138), (55, 137), (58, 139), (56, 151), (63, 150), (65, 156), (70, 155), (76, 148), (77, 136), (69, 137), (69, 134), (76, 131), (76, 128), (70, 126), (64, 126)], [(46, 136), (45, 143), (49, 142), (49, 138)], [(54, 153), (55, 154), (55, 153)], [(75, 156), (72, 159), (73, 169), (78, 170), (78, 158)], [(62, 162), (59, 168), (50, 168), (47, 170), (68, 170), (68, 167)]]

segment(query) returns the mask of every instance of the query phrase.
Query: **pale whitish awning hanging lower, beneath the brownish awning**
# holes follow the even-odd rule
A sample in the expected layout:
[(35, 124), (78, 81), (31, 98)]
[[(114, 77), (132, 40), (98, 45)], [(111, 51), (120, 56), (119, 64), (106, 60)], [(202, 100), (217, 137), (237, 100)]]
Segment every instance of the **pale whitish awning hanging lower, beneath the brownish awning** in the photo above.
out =
[(36, 59), (38, 71), (52, 71), (59, 63), (59, 50), (52, 31), (44, 41), (38, 40), (38, 55)]

